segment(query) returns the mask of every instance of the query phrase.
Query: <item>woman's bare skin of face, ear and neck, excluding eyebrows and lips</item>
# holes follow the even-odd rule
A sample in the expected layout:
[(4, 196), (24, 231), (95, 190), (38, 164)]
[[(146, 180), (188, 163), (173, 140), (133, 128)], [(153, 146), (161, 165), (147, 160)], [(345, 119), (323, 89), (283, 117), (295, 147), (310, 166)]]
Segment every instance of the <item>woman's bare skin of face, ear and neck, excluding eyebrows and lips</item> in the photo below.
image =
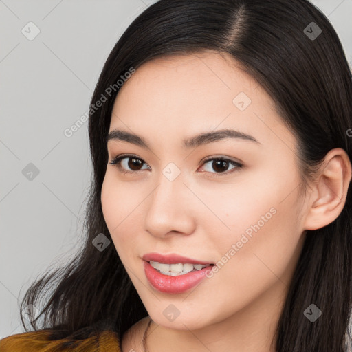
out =
[[(274, 331), (307, 230), (331, 223), (344, 207), (351, 181), (347, 153), (330, 151), (303, 197), (296, 137), (272, 98), (236, 65), (214, 52), (157, 58), (139, 67), (115, 100), (110, 131), (135, 133), (150, 147), (108, 142), (109, 161), (128, 153), (143, 164), (131, 169), (133, 157), (126, 157), (120, 166), (127, 174), (108, 164), (101, 197), (113, 244), (153, 320), (148, 351), (274, 352)], [(233, 102), (240, 92), (251, 100), (243, 110)], [(259, 143), (228, 138), (181, 145), (220, 129)], [(243, 167), (229, 163), (219, 172), (206, 157)], [(170, 162), (181, 171), (173, 181), (162, 173)], [(142, 256), (148, 252), (228, 260), (190, 292), (166, 294), (146, 279)], [(179, 311), (173, 321), (163, 314), (171, 304)], [(143, 351), (147, 323), (148, 317), (124, 335), (123, 352)]]

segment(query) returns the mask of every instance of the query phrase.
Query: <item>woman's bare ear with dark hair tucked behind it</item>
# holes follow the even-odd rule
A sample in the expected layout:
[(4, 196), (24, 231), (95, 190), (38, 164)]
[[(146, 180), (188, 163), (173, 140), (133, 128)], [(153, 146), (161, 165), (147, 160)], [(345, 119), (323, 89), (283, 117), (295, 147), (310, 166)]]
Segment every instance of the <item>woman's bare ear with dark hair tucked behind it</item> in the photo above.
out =
[(323, 228), (340, 215), (346, 203), (351, 173), (351, 161), (346, 151), (342, 148), (331, 149), (311, 188), (305, 230)]

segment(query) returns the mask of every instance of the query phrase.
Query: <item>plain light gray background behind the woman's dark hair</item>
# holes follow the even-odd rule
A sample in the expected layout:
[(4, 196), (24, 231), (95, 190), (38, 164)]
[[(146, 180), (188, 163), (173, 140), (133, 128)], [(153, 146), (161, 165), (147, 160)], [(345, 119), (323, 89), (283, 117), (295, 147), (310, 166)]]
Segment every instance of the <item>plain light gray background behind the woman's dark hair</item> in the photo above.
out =
[[(146, 0), (0, 0), (0, 338), (22, 332), (19, 298), (83, 236), (91, 163), (87, 112), (102, 65)], [(352, 0), (312, 1), (352, 63)], [(32, 21), (36, 28), (28, 25)], [(30, 26), (30, 29), (28, 29)], [(39, 174), (23, 175), (23, 169)], [(27, 169), (27, 168), (28, 169)], [(20, 291), (21, 290), (21, 291)]]

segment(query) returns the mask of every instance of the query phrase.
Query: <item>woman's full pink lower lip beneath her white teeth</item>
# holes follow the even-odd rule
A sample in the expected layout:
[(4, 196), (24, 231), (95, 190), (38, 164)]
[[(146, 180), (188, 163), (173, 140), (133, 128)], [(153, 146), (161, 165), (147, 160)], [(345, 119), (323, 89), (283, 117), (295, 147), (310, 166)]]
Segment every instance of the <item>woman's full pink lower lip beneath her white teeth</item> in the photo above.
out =
[(206, 278), (206, 274), (211, 272), (211, 270), (212, 265), (196, 272), (189, 272), (179, 276), (168, 276), (154, 269), (147, 261), (144, 261), (144, 272), (149, 283), (158, 291), (168, 294), (181, 294), (195, 287), (203, 278)]

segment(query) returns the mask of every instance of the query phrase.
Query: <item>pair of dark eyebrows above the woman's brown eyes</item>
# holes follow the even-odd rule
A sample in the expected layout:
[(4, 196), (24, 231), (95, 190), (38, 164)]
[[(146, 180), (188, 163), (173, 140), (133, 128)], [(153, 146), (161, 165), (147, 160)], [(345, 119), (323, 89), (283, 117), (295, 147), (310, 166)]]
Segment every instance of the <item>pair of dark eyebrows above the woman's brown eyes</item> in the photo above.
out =
[[(252, 135), (248, 135), (246, 133), (242, 133), (239, 131), (235, 131), (234, 129), (221, 129), (218, 131), (211, 131), (206, 133), (200, 133), (199, 135), (195, 135), (190, 138), (186, 138), (183, 140), (183, 148), (194, 148), (196, 146), (201, 146), (203, 144), (208, 144), (212, 142), (217, 142), (219, 140), (226, 139), (236, 139), (236, 140), (248, 140), (251, 142), (255, 142), (257, 144), (261, 144), (258, 142)], [(142, 148), (148, 148), (148, 143), (143, 137), (139, 135), (135, 135), (133, 133), (129, 133), (127, 131), (122, 131), (120, 129), (113, 129), (107, 135), (107, 142), (109, 140), (121, 140), (124, 142), (129, 142), (131, 144), (135, 144), (137, 146), (141, 146)]]

